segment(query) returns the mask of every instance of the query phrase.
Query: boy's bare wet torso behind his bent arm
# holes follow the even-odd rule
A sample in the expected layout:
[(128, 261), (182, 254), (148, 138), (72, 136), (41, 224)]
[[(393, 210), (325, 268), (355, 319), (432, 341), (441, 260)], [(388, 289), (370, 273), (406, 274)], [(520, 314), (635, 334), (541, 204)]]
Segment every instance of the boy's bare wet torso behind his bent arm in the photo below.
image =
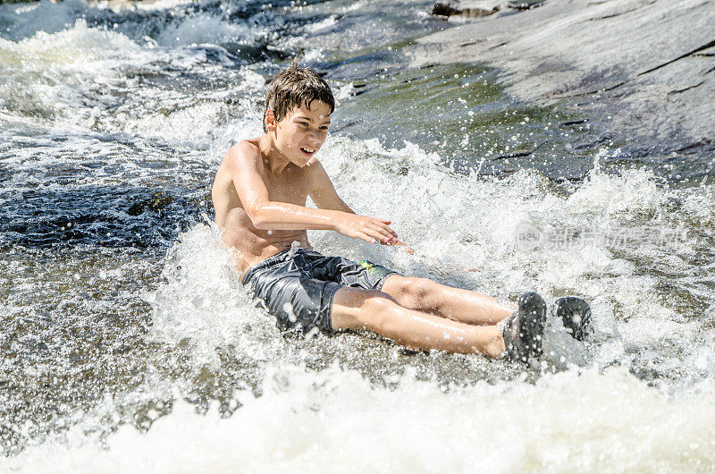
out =
[[(258, 139), (247, 141), (258, 146)], [(230, 249), (238, 250), (235, 258), (241, 276), (261, 260), (290, 249), (294, 241), (298, 241), (302, 248), (311, 249), (305, 230), (267, 231), (256, 228), (240, 202), (231, 179), (231, 171), (225, 161), (224, 159), (216, 173), (211, 195), (216, 211), (216, 224), (222, 232), (223, 242)], [(266, 169), (263, 171), (262, 177), (269, 200), (306, 205), (307, 168), (288, 165), (279, 175)]]

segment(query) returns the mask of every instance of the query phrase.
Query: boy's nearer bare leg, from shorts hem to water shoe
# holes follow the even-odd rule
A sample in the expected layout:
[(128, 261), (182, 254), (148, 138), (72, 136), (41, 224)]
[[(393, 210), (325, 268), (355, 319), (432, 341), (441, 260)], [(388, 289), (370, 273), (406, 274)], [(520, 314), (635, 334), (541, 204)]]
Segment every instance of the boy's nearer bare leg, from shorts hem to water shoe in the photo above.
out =
[[(392, 278), (392, 277), (391, 277)], [(384, 292), (341, 287), (332, 299), (333, 329), (367, 329), (415, 348), (500, 357), (504, 339), (497, 326), (472, 326), (403, 308)]]

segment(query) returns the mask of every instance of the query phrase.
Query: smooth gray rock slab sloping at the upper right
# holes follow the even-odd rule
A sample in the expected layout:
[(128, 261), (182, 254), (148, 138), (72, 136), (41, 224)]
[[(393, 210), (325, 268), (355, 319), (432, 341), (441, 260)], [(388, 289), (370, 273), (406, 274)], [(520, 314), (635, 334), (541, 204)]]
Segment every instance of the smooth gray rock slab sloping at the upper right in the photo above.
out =
[(509, 93), (566, 100), (641, 153), (715, 149), (711, 0), (550, 0), (418, 43), (413, 65), (494, 65)]

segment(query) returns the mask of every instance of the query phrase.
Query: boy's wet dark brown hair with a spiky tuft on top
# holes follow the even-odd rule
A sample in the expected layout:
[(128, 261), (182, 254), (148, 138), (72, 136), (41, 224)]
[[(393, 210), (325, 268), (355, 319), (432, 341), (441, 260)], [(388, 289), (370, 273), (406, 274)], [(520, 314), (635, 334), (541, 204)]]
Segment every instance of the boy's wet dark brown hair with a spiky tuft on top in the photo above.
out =
[(282, 120), (293, 108), (305, 104), (310, 109), (314, 100), (320, 100), (330, 106), (330, 113), (335, 110), (335, 98), (327, 82), (312, 69), (298, 67), (300, 55), (286, 69), (279, 72), (270, 84), (265, 95), (265, 110), (263, 113), (263, 131), (265, 113), (273, 110), (275, 121)]

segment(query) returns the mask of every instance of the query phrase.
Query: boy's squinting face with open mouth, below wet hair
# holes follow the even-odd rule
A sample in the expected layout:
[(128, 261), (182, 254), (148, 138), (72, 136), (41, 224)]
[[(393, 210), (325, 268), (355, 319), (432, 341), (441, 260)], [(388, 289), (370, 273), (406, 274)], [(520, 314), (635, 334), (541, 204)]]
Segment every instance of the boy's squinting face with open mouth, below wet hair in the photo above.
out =
[(310, 109), (305, 104), (293, 108), (275, 123), (276, 146), (294, 165), (303, 167), (315, 156), (328, 134), (330, 106), (314, 100)]

